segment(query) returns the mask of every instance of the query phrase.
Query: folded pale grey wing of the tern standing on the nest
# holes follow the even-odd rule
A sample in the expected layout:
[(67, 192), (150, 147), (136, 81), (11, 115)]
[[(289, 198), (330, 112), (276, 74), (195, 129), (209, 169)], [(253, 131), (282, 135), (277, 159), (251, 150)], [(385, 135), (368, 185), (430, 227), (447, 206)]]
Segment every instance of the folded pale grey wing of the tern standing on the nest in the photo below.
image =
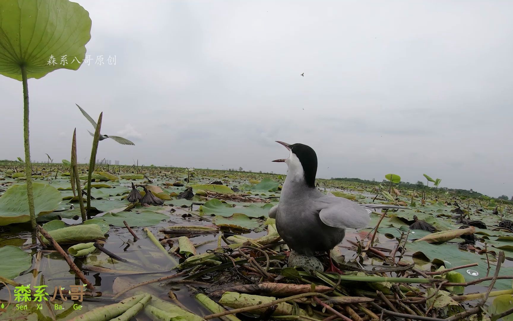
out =
[(324, 224), (340, 229), (365, 228), (369, 224), (372, 210), (342, 197), (327, 196), (325, 200), (319, 203), (319, 217)]

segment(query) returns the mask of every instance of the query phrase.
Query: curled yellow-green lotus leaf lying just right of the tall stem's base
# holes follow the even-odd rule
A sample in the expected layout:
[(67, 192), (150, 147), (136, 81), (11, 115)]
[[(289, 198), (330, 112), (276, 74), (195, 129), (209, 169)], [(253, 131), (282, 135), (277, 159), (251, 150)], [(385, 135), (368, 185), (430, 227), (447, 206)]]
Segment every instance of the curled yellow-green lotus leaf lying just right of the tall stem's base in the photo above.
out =
[[(72, 225), (66, 228), (49, 231), (48, 234), (60, 244), (81, 243), (94, 239), (105, 239), (100, 226), (96, 224)], [(43, 242), (48, 240), (43, 237)]]

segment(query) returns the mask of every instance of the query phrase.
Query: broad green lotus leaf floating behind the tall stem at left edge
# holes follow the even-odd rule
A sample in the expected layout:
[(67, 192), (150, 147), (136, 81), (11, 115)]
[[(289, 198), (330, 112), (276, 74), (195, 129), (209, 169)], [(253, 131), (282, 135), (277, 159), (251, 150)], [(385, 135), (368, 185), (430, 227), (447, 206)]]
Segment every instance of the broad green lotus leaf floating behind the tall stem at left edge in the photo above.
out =
[[(61, 204), (61, 192), (48, 184), (32, 183), (35, 215), (45, 215), (55, 211)], [(0, 225), (30, 221), (27, 185), (11, 186), (0, 197)]]

